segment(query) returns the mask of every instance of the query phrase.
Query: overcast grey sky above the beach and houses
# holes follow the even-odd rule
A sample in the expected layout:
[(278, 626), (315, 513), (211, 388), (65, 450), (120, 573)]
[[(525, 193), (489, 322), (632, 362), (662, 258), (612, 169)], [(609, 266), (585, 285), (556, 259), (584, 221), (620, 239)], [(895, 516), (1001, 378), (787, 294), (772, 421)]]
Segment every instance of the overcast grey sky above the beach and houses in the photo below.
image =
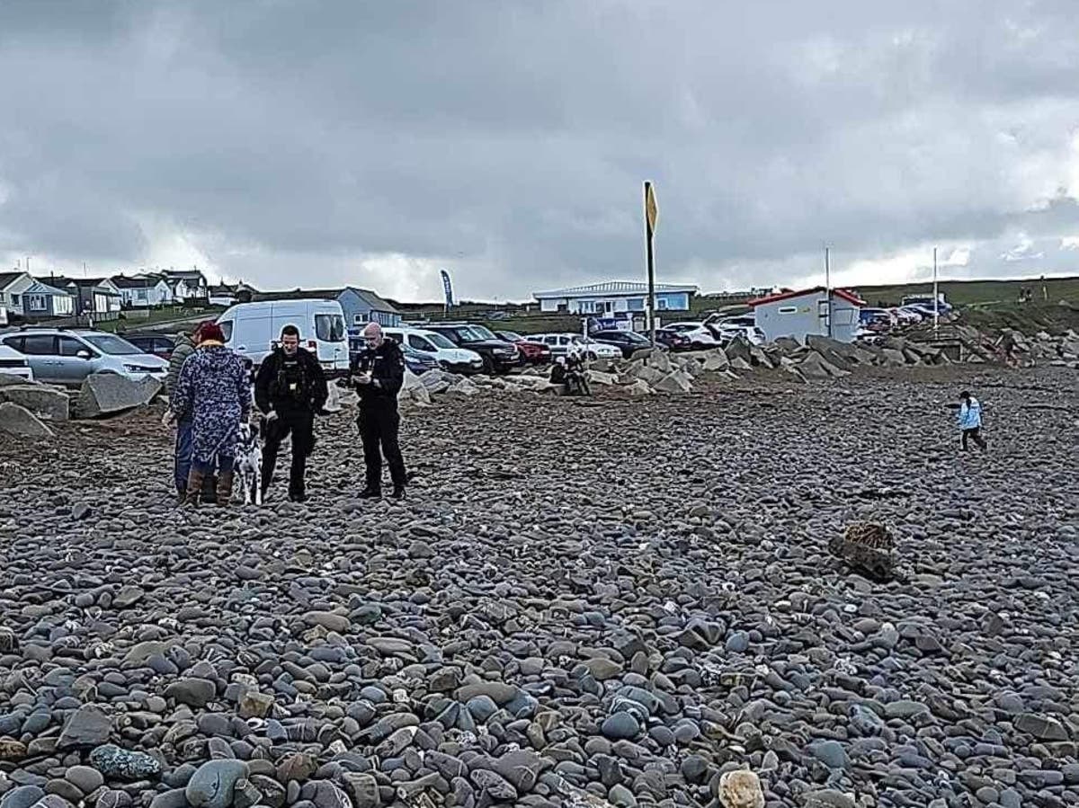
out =
[(1077, 0), (4, 0), (0, 261), (527, 299), (651, 179), (705, 291), (1074, 273), (1077, 74)]

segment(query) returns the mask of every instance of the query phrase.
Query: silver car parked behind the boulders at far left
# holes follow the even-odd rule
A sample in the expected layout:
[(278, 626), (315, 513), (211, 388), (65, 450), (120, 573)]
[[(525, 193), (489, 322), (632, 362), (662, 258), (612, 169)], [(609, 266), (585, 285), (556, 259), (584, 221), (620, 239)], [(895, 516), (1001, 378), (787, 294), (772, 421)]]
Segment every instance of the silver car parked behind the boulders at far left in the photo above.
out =
[(25, 356), (35, 379), (47, 384), (82, 384), (91, 373), (162, 382), (168, 374), (167, 361), (105, 331), (32, 328), (5, 333), (0, 343)]

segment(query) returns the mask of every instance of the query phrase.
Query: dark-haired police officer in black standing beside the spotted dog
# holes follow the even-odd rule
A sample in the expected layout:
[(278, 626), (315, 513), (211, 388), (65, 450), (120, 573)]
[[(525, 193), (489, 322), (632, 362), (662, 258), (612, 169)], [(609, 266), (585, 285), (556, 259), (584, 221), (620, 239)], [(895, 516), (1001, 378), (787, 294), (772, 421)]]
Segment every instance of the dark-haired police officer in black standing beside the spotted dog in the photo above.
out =
[(285, 326), (281, 347), (265, 358), (255, 380), (255, 403), (267, 417), (267, 442), (262, 448), (262, 494), (265, 496), (285, 437), (292, 434), (292, 466), (288, 475), (288, 498), (308, 498), (303, 473), (315, 446), (315, 415), (324, 414), (329, 389), (318, 358), (300, 347), (300, 329)]

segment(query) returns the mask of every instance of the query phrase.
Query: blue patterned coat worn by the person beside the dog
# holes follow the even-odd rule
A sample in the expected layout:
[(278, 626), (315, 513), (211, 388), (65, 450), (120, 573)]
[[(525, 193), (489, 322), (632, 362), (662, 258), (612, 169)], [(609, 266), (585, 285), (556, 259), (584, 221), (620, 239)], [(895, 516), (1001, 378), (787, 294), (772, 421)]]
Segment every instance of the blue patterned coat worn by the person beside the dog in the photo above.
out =
[(251, 411), (247, 369), (220, 343), (200, 345), (183, 361), (169, 407), (177, 417), (192, 419), (191, 460), (210, 464), (235, 454), (240, 424)]

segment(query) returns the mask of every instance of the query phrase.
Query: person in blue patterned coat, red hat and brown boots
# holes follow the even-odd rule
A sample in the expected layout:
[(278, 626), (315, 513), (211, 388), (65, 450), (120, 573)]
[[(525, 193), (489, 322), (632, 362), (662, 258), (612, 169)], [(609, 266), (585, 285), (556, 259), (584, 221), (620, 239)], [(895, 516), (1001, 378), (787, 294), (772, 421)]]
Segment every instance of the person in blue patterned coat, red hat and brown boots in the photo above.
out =
[(220, 326), (204, 326), (201, 337), (199, 347), (180, 368), (169, 407), (177, 415), (191, 413), (187, 502), (199, 504), (203, 480), (216, 464), (217, 504), (224, 507), (232, 496), (240, 425), (251, 411), (251, 386), (243, 361), (224, 346)]

